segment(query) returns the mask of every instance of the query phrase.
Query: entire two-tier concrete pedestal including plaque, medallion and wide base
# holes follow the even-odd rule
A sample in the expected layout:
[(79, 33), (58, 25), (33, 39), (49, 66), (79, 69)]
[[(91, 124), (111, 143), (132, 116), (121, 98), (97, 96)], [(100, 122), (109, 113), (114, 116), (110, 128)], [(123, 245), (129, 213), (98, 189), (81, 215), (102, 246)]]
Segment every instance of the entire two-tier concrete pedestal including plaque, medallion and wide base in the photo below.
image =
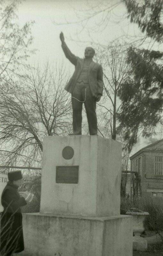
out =
[(120, 215), (120, 182), (119, 142), (45, 137), (40, 213), (23, 215), (21, 255), (132, 256), (132, 217)]

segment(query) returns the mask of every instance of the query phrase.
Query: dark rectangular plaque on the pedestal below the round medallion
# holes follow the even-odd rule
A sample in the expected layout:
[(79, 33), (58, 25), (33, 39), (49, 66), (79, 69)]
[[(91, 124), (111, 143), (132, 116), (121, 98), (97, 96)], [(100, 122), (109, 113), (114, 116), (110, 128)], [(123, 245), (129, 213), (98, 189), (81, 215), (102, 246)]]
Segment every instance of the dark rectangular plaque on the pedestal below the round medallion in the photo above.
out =
[(56, 166), (56, 183), (76, 184), (79, 179), (79, 166)]

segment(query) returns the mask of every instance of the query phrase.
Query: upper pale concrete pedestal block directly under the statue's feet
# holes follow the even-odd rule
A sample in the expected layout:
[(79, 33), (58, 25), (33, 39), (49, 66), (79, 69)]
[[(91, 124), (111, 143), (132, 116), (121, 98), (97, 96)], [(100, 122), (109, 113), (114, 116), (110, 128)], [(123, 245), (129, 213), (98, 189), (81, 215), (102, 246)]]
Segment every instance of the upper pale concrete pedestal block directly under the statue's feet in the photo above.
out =
[[(71, 159), (63, 150), (71, 147)], [(77, 184), (56, 183), (57, 166), (79, 166)], [(43, 139), (41, 213), (83, 216), (120, 214), (121, 145), (99, 136)]]

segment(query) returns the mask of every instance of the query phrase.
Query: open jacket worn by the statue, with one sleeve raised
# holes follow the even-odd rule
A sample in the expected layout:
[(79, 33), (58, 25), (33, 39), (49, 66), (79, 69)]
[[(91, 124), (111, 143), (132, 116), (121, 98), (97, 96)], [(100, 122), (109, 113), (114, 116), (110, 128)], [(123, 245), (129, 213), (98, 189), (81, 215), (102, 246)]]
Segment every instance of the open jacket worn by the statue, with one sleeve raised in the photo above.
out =
[[(75, 66), (75, 71), (73, 76), (70, 78), (68, 84), (66, 84), (65, 90), (67, 92), (72, 93), (74, 90), (74, 86), (78, 80), (78, 77), (82, 71), (84, 59), (81, 59), (75, 56), (67, 47), (66, 43), (62, 43), (62, 49), (65, 53), (65, 56), (68, 60), (71, 61)], [(92, 93), (92, 96), (97, 98), (98, 95), (102, 95), (103, 93), (103, 70), (101, 65), (98, 63), (92, 62), (90, 63), (88, 70), (88, 78), (89, 78), (89, 88)]]

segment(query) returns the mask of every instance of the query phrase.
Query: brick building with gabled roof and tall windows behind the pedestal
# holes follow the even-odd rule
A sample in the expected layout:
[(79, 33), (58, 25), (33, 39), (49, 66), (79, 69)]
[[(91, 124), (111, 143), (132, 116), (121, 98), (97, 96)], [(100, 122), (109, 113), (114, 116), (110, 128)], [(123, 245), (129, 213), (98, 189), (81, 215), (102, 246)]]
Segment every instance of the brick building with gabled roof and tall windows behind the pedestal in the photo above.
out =
[(130, 196), (163, 197), (163, 139), (140, 149), (130, 161)]

